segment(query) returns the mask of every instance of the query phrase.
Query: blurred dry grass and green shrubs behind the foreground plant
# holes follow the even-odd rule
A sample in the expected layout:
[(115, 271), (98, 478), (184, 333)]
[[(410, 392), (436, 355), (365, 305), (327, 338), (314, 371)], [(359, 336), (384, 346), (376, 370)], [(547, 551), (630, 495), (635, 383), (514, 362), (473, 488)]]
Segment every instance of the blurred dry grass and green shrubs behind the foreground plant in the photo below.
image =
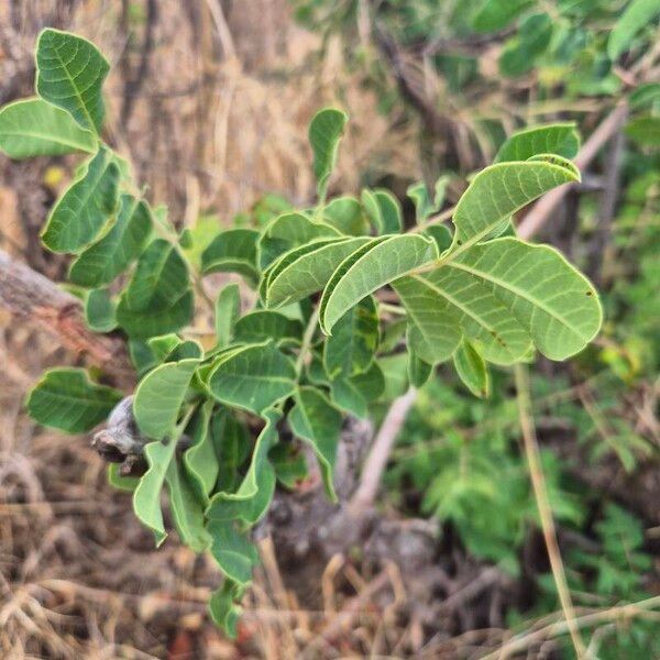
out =
[[(351, 116), (331, 193), (387, 186), (410, 223), (410, 184), (442, 190), (441, 212), (513, 131), (575, 122), (583, 183), (536, 237), (597, 284), (605, 327), (569, 363), (539, 362), (532, 410), (588, 651), (650, 659), (660, 657), (659, 18), (657, 0), (6, 0), (0, 103), (30, 94), (43, 26), (94, 40), (116, 69), (111, 142), (182, 229), (261, 226), (309, 202), (305, 127), (326, 105)], [(66, 264), (37, 232), (66, 163), (0, 161), (0, 245), (54, 279)], [(316, 604), (301, 607), (266, 543), (230, 642), (204, 614), (211, 564), (174, 543), (154, 552), (86, 440), (24, 417), (24, 391), (64, 359), (0, 317), (3, 658), (481, 658), (502, 647), (572, 657), (507, 370), (494, 371), (487, 399), (440, 370), (391, 457), (380, 506), (439, 522), (447, 585), (432, 625), (406, 605), (394, 568), (389, 598), (376, 598), (381, 573), (359, 552), (331, 562), (309, 585)], [(376, 421), (406, 388), (405, 361), (391, 362)]]

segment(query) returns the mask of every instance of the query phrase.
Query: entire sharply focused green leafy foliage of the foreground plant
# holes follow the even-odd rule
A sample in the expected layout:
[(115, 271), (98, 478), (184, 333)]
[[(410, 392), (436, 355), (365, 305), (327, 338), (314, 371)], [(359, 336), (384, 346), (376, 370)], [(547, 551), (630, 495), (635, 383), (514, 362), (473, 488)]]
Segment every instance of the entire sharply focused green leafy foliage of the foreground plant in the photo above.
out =
[[(210, 605), (230, 631), (256, 562), (250, 528), (276, 483), (292, 487), (300, 473), (296, 452), (282, 451), (284, 427), (311, 446), (334, 498), (342, 417), (367, 415), (392, 392), (395, 363), (407, 367), (396, 374), (400, 386), (421, 385), (436, 365), (453, 361), (465, 385), (485, 395), (488, 364), (529, 362), (536, 351), (564, 360), (600, 330), (590, 282), (557, 250), (519, 240), (512, 223), (546, 191), (580, 179), (569, 160), (578, 148), (570, 124), (506, 141), (495, 164), (472, 177), (451, 226), (433, 215), (442, 184), (432, 200), (415, 187), (418, 223), (406, 231), (387, 190), (328, 199), (348, 118), (322, 110), (309, 128), (315, 207), (178, 233), (102, 140), (105, 57), (88, 41), (48, 29), (36, 65), (38, 96), (0, 110), (0, 147), (14, 158), (89, 154), (53, 206), (42, 241), (75, 256), (69, 278), (90, 327), (125, 336), (139, 383), (122, 399), (84, 370), (54, 369), (28, 409), (41, 424), (85, 432), (128, 406), (139, 433), (122, 431), (120, 440), (129, 459), (143, 453), (147, 469), (134, 476), (128, 459), (110, 471), (111, 482), (132, 491), (135, 515), (157, 544), (167, 536), (166, 490), (182, 541), (210, 551), (224, 574)], [(215, 273), (242, 276), (255, 302), (244, 309), (237, 284), (212, 299), (205, 279)], [(202, 346), (199, 331), (213, 341)], [(444, 488), (437, 486), (429, 508), (449, 506), (440, 502)]]

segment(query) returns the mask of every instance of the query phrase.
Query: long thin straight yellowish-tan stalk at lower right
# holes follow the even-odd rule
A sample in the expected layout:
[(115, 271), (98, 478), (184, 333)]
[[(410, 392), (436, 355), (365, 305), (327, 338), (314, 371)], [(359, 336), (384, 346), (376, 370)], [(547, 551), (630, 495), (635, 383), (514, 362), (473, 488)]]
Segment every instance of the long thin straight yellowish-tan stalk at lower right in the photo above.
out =
[(578, 658), (584, 658), (586, 649), (582, 641), (580, 630), (575, 625), (575, 610), (573, 608), (571, 592), (569, 591), (569, 584), (566, 582), (559, 543), (557, 541), (557, 530), (554, 528), (554, 519), (552, 518), (552, 508), (550, 507), (546, 476), (543, 475), (539, 446), (534, 428), (534, 419), (531, 417), (531, 400), (529, 397), (527, 367), (524, 364), (517, 364), (515, 374), (520, 431), (522, 432), (525, 454), (529, 465), (529, 475), (531, 477), (534, 495), (539, 509), (541, 530), (548, 550), (548, 558), (550, 559), (550, 568), (552, 569), (552, 576), (554, 578), (554, 584), (557, 585), (557, 592), (559, 594), (559, 601), (564, 614), (568, 630), (571, 635), (573, 646), (575, 647), (575, 653), (578, 654)]

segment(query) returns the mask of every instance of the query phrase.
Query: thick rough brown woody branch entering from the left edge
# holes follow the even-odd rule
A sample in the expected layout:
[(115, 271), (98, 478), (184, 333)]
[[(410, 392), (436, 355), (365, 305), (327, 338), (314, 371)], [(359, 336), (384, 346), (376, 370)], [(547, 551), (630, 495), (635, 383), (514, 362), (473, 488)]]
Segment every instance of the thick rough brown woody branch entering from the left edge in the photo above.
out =
[(63, 345), (99, 366), (119, 387), (132, 389), (135, 374), (120, 338), (91, 332), (82, 318), (80, 300), (47, 277), (0, 250), (0, 307), (58, 337)]

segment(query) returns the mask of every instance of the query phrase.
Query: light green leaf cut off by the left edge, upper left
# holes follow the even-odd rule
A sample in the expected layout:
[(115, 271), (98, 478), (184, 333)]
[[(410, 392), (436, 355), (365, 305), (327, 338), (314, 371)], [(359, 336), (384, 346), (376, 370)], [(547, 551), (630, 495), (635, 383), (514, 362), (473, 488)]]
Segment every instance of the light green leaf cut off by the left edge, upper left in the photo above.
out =
[(0, 151), (10, 158), (94, 153), (97, 147), (90, 131), (42, 99), (23, 99), (0, 109)]

